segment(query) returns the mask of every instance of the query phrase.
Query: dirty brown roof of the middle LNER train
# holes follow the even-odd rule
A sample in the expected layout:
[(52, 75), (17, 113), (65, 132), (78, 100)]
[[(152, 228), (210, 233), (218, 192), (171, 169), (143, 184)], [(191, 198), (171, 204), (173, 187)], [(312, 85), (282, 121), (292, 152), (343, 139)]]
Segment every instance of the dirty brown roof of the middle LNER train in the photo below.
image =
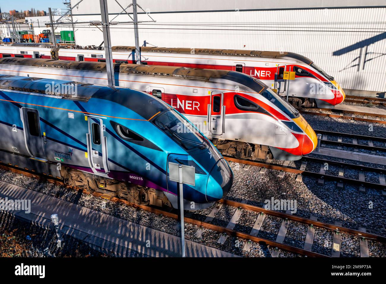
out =
[[(43, 66), (60, 69), (106, 71), (105, 62), (52, 60), (35, 58), (1, 58), (0, 64), (22, 65), (22, 66)], [(169, 76), (180, 78), (194, 78), (209, 80), (210, 78), (221, 78), (227, 75), (228, 70), (212, 69), (191, 69), (186, 67), (137, 65), (127, 63), (114, 63), (115, 72), (126, 74), (142, 74), (154, 76)]]

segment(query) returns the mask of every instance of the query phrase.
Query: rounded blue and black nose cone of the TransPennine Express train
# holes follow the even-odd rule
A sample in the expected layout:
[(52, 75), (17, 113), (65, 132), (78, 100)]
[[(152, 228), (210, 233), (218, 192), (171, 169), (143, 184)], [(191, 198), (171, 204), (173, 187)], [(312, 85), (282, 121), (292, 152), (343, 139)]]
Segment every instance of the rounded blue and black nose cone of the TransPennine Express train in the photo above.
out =
[(222, 158), (209, 173), (206, 197), (208, 202), (218, 201), (226, 196), (232, 187), (233, 172)]

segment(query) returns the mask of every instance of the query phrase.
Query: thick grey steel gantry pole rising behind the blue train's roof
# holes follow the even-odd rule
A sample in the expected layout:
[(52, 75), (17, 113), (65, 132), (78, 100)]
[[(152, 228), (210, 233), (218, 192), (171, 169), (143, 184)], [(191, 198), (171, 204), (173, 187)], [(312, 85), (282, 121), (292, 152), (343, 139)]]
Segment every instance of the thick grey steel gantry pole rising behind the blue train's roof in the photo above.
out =
[(113, 55), (111, 51), (110, 22), (108, 20), (107, 0), (99, 0), (100, 15), (102, 17), (103, 44), (105, 46), (107, 82), (115, 86)]

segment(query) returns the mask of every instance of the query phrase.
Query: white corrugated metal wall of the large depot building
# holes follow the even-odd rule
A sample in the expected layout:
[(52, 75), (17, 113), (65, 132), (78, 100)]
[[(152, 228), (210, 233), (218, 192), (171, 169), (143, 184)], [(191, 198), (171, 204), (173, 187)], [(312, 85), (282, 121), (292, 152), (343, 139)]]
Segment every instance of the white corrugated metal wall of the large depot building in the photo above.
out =
[[(147, 46), (292, 51), (313, 60), (334, 76), (343, 88), (378, 92), (386, 90), (386, 7), (358, 8), (358, 1), (322, 1), (324, 6), (319, 7), (345, 4), (355, 8), (303, 9), (306, 2), (298, 1), (293, 3), (299, 5), (284, 7), (285, 10), (252, 11), (248, 9), (268, 9), (269, 5), (264, 4), (262, 8), (252, 6), (248, 1), (249, 5), (240, 7), (239, 11), (169, 13), (167, 11), (173, 9), (171, 4), (174, 1), (160, 1), (164, 7), (159, 3), (154, 4), (157, 3), (154, 1), (137, 1), (156, 20), (155, 23), (139, 26), (140, 43), (146, 42)], [(131, 3), (119, 2), (125, 8)], [(180, 2), (176, 4), (175, 11), (185, 7)], [(214, 7), (217, 10), (232, 8), (230, 1), (216, 1), (215, 5), (214, 1), (206, 2), (206, 6), (188, 2), (185, 9), (211, 11)], [(372, 5), (381, 3), (369, 2)], [(98, 2), (92, 3), (92, 6), (90, 0), (80, 3), (74, 9), (74, 20), (100, 20), (100, 16), (96, 15), (99, 13)], [(114, 3), (109, 2), (110, 20), (120, 12)], [(223, 7), (219, 7), (220, 3)], [(131, 8), (128, 10), (132, 11)], [(114, 19), (120, 22), (129, 20), (125, 14)], [(139, 20), (151, 19), (141, 14)], [(130, 25), (112, 26), (111, 36), (113, 45), (134, 45), (134, 31)], [(97, 27), (79, 24), (75, 29), (75, 39), (77, 44), (83, 46), (99, 45), (103, 35)]]

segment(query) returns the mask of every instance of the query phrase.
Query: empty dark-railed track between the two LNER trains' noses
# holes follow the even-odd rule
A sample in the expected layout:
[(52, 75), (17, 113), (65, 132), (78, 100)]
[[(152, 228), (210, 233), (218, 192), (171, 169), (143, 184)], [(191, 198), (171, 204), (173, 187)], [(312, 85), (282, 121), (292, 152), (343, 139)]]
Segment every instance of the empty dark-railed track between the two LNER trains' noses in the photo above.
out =
[(359, 149), (365, 149), (370, 150), (372, 154), (375, 154), (377, 151), (386, 153), (386, 138), (318, 129), (314, 129), (314, 131), (317, 134), (322, 134), (320, 143), (323, 147), (328, 144), (337, 145), (338, 149), (341, 149), (343, 146), (352, 148), (356, 152)]

